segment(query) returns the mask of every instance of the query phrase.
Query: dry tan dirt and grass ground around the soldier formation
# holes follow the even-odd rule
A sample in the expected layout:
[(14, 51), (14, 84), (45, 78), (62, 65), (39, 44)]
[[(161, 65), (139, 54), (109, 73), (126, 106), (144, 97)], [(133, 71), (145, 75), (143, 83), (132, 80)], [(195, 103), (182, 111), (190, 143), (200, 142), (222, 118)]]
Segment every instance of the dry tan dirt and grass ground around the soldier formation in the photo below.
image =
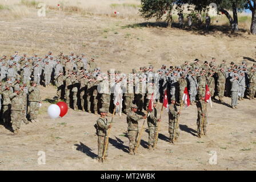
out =
[[(1, 19), (1, 55), (27, 52), (32, 56), (53, 51), (69, 54), (85, 52), (95, 56), (103, 71), (109, 68), (129, 73), (132, 68), (152, 64), (178, 65), (198, 58), (217, 57), (240, 63), (255, 59), (255, 36), (222, 32), (199, 34), (165, 27), (134, 27), (142, 20), (106, 16), (49, 12), (46, 17)], [(53, 99), (55, 87), (40, 87), (43, 100)], [(230, 98), (225, 98), (230, 104)], [(97, 136), (93, 127), (99, 115), (69, 109), (63, 118), (47, 116), (49, 102), (43, 102), (38, 123), (22, 125), (21, 134), (13, 135), (0, 126), (1, 170), (255, 170), (256, 100), (239, 101), (238, 109), (227, 105), (208, 106), (208, 135), (195, 137), (196, 106), (182, 110), (181, 135), (174, 145), (168, 140), (168, 117), (164, 110), (157, 149), (146, 149), (148, 134), (143, 130), (138, 154), (127, 153), (129, 139), (126, 115), (115, 117), (111, 130), (109, 159), (99, 164)], [(160, 113), (161, 105), (158, 105)], [(109, 117), (110, 119), (110, 117)], [(141, 121), (139, 128), (142, 126)], [(45, 152), (46, 164), (38, 164), (38, 151)], [(210, 151), (217, 152), (217, 164), (211, 165)]]

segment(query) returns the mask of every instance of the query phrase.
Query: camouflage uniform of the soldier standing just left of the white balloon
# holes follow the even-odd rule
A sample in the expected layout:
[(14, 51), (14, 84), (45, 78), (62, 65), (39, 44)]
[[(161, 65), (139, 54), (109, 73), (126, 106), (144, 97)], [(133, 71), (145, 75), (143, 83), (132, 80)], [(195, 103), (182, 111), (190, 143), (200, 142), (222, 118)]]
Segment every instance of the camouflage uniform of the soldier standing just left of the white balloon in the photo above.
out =
[(40, 90), (37, 88), (37, 86), (31, 86), (29, 88), (29, 112), (28, 112), (31, 122), (37, 121), (40, 102), (41, 102)]

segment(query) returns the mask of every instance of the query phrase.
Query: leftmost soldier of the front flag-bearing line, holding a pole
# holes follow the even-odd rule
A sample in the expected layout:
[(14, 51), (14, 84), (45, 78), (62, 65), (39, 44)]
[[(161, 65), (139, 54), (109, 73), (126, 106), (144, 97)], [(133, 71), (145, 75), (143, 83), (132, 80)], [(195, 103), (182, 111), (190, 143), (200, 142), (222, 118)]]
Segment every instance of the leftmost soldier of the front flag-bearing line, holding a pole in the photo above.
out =
[[(99, 113), (101, 113), (101, 117), (97, 119), (97, 135), (98, 135), (98, 162), (103, 162), (102, 156), (104, 147), (106, 146), (107, 142), (107, 130), (111, 128), (111, 123), (107, 122), (106, 114), (107, 111), (103, 108), (99, 109)], [(105, 160), (108, 155), (108, 147), (106, 148), (106, 155)]]

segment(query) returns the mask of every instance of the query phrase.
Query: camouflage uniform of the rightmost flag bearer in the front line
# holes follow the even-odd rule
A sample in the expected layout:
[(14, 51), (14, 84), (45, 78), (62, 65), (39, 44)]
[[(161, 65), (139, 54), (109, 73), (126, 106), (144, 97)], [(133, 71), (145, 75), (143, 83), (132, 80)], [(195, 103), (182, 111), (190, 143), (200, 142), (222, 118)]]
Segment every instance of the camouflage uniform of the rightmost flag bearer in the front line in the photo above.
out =
[[(205, 100), (199, 100), (197, 102), (197, 134), (200, 134), (201, 126), (203, 124), (203, 133), (206, 134), (206, 124), (207, 124), (207, 104), (205, 104)], [(202, 114), (205, 114), (203, 119)], [(203, 122), (203, 123), (202, 123)]]

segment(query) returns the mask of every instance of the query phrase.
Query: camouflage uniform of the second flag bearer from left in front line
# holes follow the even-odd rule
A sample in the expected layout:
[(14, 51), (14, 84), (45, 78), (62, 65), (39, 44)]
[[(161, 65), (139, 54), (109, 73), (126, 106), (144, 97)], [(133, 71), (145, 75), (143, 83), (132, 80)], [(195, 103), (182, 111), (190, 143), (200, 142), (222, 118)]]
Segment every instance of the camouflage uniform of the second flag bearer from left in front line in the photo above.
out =
[(143, 119), (142, 115), (130, 111), (127, 113), (127, 123), (128, 123), (128, 138), (129, 138), (129, 150), (134, 151), (136, 147), (137, 137), (138, 137), (138, 120)]

